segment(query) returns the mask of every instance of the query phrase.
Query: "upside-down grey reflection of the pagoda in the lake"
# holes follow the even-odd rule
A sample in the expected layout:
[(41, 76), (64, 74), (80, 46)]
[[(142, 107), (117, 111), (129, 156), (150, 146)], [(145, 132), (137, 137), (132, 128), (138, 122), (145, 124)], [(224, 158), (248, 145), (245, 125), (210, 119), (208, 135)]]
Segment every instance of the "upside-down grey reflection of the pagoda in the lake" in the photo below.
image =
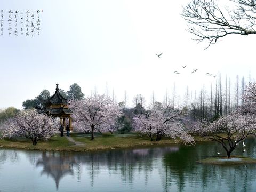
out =
[(76, 164), (73, 155), (68, 153), (43, 152), (42, 158), (38, 159), (36, 166), (43, 166), (41, 175), (50, 175), (55, 180), (58, 190), (60, 180), (65, 175), (74, 175), (73, 165)]

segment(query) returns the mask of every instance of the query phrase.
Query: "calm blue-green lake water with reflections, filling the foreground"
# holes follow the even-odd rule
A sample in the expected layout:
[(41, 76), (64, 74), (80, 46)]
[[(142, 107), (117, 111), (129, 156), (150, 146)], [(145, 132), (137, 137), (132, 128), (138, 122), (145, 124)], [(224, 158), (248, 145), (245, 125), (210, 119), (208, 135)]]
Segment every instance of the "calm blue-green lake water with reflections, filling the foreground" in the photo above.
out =
[[(256, 158), (256, 140), (245, 143), (243, 155)], [(256, 165), (196, 163), (217, 151), (225, 154), (215, 142), (90, 153), (2, 148), (0, 191), (256, 191)]]

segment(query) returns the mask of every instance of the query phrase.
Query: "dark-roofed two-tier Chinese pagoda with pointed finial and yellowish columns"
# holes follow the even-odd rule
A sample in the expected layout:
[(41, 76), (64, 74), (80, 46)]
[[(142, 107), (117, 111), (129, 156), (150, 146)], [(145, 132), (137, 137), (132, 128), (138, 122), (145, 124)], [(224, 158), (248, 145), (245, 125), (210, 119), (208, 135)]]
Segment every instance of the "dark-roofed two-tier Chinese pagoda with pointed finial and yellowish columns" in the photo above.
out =
[(67, 99), (59, 92), (59, 84), (56, 84), (56, 91), (52, 97), (42, 100), (47, 114), (54, 118), (60, 118), (60, 124), (66, 129), (66, 121), (69, 121), (70, 131), (73, 130), (71, 110), (68, 108)]

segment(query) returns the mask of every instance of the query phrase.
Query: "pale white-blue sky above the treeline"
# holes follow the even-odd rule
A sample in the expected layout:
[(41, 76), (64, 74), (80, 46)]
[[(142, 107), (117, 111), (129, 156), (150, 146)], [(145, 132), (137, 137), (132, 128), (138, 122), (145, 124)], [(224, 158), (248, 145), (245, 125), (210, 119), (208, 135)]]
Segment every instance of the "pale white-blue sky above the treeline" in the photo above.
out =
[[(228, 1), (228, 0), (223, 0)], [(226, 76), (234, 86), (244, 76), (255, 76), (253, 35), (232, 35), (204, 49), (193, 41), (181, 17), (189, 0), (8, 0), (0, 10), (41, 10), (40, 35), (0, 36), (0, 109), (21, 109), (42, 90), (51, 94), (55, 84), (65, 91), (77, 83), (85, 96), (106, 93), (117, 102), (127, 93), (128, 105), (142, 94), (149, 105), (154, 91), (162, 102), (185, 91), (209, 91), (217, 78)], [(5, 13), (7, 17), (7, 13)], [(7, 25), (7, 23), (6, 23)], [(160, 58), (156, 54), (160, 54)], [(181, 66), (187, 67), (183, 69)], [(191, 74), (193, 69), (197, 73)], [(177, 70), (180, 74), (174, 74)], [(232, 88), (233, 89), (233, 88)], [(235, 89), (235, 88), (234, 88)]]

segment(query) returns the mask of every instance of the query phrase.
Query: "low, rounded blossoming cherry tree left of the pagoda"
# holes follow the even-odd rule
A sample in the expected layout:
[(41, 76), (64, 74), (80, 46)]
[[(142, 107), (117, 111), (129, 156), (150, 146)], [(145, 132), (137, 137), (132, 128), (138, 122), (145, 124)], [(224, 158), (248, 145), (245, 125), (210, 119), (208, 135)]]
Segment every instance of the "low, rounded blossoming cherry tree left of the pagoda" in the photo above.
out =
[(58, 125), (45, 114), (38, 114), (36, 110), (23, 110), (12, 121), (7, 122), (9, 128), (6, 137), (23, 136), (31, 139), (33, 145), (39, 140), (48, 140), (58, 132)]

